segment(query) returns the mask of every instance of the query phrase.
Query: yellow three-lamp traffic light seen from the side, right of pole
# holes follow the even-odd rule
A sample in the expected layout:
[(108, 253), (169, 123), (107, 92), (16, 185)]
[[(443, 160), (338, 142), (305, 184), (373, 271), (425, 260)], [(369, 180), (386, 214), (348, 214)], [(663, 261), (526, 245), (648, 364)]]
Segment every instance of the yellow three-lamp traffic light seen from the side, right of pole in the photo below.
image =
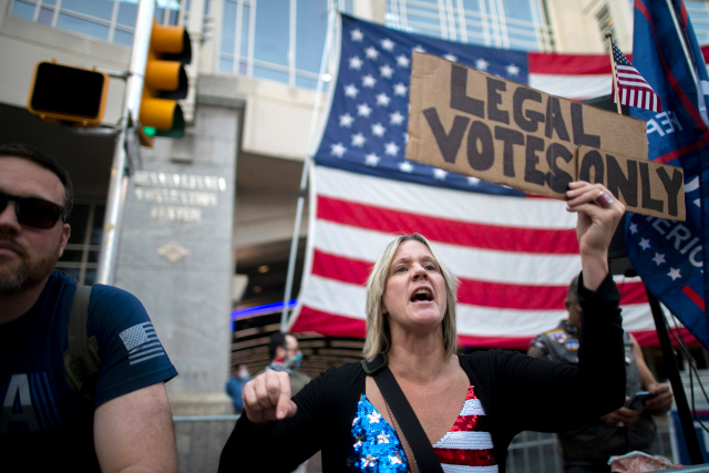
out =
[(183, 27), (153, 23), (138, 119), (147, 136), (184, 136), (185, 119), (177, 100), (187, 96), (189, 84), (183, 64), (189, 61), (189, 33)]

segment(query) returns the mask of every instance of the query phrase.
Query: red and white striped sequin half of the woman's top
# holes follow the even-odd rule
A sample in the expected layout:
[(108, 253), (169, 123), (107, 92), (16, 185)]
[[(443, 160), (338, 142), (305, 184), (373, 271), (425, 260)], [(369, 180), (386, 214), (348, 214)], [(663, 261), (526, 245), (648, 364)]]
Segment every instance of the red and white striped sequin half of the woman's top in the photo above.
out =
[(497, 472), (497, 463), (492, 455), (492, 436), (484, 419), (485, 411), (471, 385), (455, 423), (433, 445), (445, 473)]

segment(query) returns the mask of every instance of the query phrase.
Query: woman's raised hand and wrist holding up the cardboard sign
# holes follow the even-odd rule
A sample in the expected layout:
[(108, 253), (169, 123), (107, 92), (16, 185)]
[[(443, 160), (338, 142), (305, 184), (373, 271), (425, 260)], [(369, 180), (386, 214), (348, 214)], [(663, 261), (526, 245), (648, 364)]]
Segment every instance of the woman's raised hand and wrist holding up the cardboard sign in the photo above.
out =
[(566, 209), (576, 212), (576, 237), (580, 250), (584, 285), (596, 290), (608, 274), (608, 247), (625, 213), (625, 205), (600, 184), (568, 184)]

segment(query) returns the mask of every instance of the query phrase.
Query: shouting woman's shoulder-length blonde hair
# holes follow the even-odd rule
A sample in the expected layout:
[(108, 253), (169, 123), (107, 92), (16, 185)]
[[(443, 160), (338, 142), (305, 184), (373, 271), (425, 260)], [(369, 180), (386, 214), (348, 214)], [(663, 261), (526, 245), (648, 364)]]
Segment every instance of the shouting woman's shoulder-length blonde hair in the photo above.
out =
[(429, 248), (439, 265), (443, 280), (445, 281), (445, 315), (443, 316), (443, 347), (448, 357), (455, 353), (458, 333), (455, 330), (455, 304), (458, 300), (458, 278), (448, 269), (441, 257), (435, 253), (429, 240), (423, 235), (402, 235), (391, 241), (379, 255), (372, 271), (367, 279), (367, 338), (364, 339), (364, 358), (373, 360), (379, 353), (387, 353), (391, 348), (391, 332), (389, 322), (383, 313), (382, 297), (389, 269), (394, 259), (397, 249), (404, 241), (419, 241)]

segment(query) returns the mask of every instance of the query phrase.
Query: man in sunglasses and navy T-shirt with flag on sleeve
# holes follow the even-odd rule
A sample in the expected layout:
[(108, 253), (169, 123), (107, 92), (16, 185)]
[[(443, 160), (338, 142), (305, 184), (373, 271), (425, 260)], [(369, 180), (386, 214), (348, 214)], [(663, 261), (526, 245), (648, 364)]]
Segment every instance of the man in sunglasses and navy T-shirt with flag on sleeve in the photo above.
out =
[(72, 203), (69, 174), (52, 157), (0, 145), (0, 470), (176, 472), (165, 382), (177, 371), (134, 296), (93, 286), (93, 402), (66, 382), (76, 281), (53, 268)]

